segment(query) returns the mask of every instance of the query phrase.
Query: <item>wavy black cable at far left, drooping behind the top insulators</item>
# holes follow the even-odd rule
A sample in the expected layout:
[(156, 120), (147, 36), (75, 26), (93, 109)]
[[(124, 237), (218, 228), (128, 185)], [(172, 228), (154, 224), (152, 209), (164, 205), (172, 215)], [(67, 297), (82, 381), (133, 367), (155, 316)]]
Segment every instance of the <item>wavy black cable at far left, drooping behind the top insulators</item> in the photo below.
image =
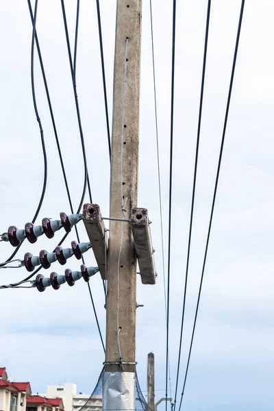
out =
[[(41, 144), (42, 144), (42, 153), (43, 153), (43, 158), (44, 158), (44, 182), (42, 186), (42, 193), (40, 196), (40, 200), (38, 203), (38, 207), (36, 209), (36, 212), (34, 214), (34, 218), (32, 219), (32, 224), (35, 223), (37, 216), (40, 212), (40, 209), (42, 207), (42, 202), (44, 201), (45, 198), (45, 192), (47, 188), (47, 151), (45, 147), (45, 139), (44, 139), (44, 131), (42, 129), (42, 123), (40, 120), (38, 108), (37, 108), (37, 103), (36, 103), (36, 94), (35, 94), (35, 86), (34, 86), (34, 37), (36, 34), (36, 16), (37, 16), (37, 8), (38, 8), (38, 0), (36, 0), (35, 5), (34, 5), (34, 18), (32, 19), (32, 50), (31, 50), (31, 81), (32, 81), (32, 99), (34, 103), (34, 110), (36, 114), (36, 120), (38, 121), (39, 129), (40, 129), (40, 136), (41, 136)], [(23, 244), (23, 241), (16, 247), (12, 255), (5, 260), (0, 266), (4, 266), (7, 262), (12, 260), (14, 256), (16, 256), (18, 250), (20, 249), (21, 245)]]

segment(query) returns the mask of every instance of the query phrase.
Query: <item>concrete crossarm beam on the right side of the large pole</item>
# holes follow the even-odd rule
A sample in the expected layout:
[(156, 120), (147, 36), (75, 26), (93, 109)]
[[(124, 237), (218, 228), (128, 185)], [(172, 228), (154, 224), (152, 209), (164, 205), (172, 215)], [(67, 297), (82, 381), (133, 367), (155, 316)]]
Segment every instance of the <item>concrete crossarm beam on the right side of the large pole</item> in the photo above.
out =
[(133, 208), (129, 223), (138, 258), (142, 284), (155, 284), (155, 261), (152, 247), (150, 221), (147, 208)]

